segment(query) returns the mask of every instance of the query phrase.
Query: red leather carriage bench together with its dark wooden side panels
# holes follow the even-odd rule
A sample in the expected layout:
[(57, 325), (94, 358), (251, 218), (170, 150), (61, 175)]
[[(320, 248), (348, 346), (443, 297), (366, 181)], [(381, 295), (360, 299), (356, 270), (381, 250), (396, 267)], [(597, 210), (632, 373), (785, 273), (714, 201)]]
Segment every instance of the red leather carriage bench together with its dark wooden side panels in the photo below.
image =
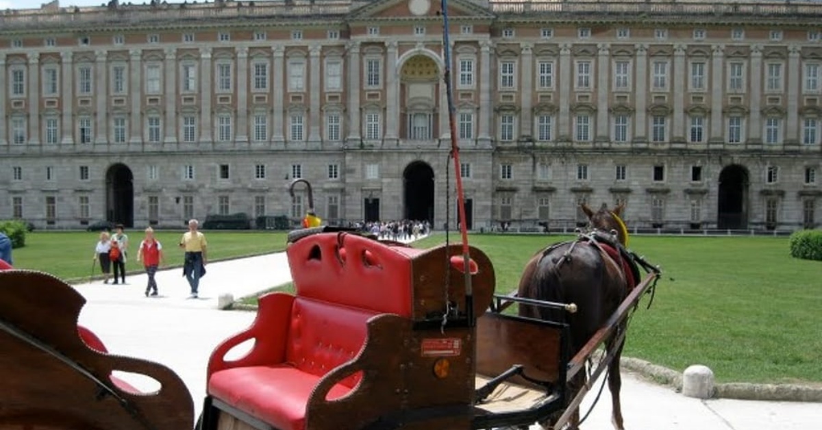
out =
[[(468, 329), (441, 334), (441, 314), (430, 330), (415, 327), (444, 303), (444, 274), (436, 271), (448, 270), (445, 252), (455, 251), (387, 245), (345, 232), (316, 233), (289, 244), (295, 294), (261, 297), (252, 326), (214, 350), (203, 428), (358, 428), (420, 403), (469, 405), (473, 383), (439, 381), (441, 394), (420, 386), (436, 384), (426, 382), (436, 379), (436, 354), (450, 357), (425, 345), (454, 342), (455, 354), (473, 354)], [(476, 281), (484, 310), (493, 270), (482, 252), (473, 252), (486, 279)], [(450, 271), (459, 303), (462, 275)], [(424, 291), (434, 285), (437, 294)], [(247, 340), (254, 340), (247, 354), (225, 358)], [(473, 364), (454, 365), (450, 377), (473, 380)]]

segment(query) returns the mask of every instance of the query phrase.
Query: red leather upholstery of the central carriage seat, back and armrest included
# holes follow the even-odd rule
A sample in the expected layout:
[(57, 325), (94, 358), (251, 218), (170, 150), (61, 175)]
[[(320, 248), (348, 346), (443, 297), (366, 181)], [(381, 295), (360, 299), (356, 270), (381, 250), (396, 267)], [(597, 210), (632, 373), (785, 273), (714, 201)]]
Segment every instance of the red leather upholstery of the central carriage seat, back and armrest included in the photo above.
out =
[[(215, 349), (206, 406), (216, 400), (273, 428), (302, 430), (309, 405), (356, 390), (363, 372), (353, 363), (367, 344), (369, 321), (411, 317), (418, 250), (318, 233), (292, 243), (287, 253), (296, 294), (263, 296), (252, 326)], [(244, 357), (224, 358), (252, 339)]]

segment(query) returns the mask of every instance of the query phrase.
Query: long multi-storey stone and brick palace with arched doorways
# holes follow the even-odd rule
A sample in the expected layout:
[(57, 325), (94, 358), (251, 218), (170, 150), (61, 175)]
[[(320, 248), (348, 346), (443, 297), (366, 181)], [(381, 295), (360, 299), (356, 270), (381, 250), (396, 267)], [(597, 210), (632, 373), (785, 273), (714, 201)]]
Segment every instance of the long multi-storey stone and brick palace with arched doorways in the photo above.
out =
[(0, 12), (0, 219), (820, 225), (822, 4), (448, 3), (459, 172), (433, 0)]

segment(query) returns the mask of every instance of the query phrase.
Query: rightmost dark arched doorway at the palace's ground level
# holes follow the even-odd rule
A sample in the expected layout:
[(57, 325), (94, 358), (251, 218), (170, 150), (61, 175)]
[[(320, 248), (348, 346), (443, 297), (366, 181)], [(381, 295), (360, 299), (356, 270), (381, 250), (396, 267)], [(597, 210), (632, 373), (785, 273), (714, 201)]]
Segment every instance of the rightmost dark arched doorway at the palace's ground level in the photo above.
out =
[(748, 227), (748, 170), (731, 164), (719, 173), (718, 229)]

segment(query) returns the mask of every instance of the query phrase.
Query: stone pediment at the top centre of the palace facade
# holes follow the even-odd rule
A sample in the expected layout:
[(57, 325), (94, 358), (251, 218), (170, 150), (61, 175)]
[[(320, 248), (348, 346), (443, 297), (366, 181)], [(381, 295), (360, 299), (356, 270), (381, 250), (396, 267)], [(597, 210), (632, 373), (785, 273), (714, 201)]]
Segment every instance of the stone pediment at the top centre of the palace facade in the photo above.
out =
[[(420, 0), (414, 0), (415, 3), (424, 5)], [(349, 21), (396, 21), (404, 19), (430, 19), (441, 21), (440, 2), (436, 0), (428, 0), (427, 12), (422, 15), (414, 15), (411, 12), (410, 0), (380, 0), (376, 2), (369, 2), (363, 7), (358, 7), (349, 13)], [(456, 16), (471, 16), (473, 18), (485, 17), (491, 19), (494, 14), (487, 8), (479, 6), (473, 2), (466, 0), (450, 0), (448, 2), (448, 16), (454, 18)]]

